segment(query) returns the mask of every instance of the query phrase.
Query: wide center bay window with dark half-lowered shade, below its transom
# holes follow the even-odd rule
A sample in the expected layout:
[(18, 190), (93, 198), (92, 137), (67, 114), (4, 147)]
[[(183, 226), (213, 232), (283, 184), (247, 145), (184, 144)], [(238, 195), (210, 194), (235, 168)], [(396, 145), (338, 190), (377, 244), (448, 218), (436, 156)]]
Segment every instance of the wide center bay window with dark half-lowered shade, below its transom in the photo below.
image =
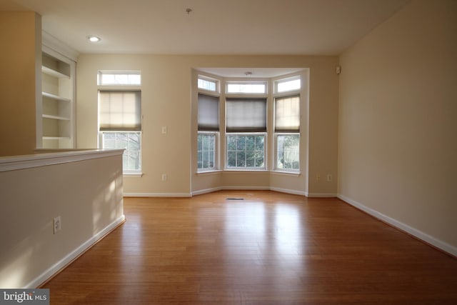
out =
[(226, 168), (266, 169), (266, 99), (226, 99)]

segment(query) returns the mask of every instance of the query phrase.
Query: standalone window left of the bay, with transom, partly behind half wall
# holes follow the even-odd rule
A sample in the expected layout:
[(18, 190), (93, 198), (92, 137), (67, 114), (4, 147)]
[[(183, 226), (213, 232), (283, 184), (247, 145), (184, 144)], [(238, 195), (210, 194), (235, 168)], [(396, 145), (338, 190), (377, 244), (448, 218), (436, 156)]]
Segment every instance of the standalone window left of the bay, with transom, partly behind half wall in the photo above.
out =
[[(99, 72), (106, 75), (106, 72)], [(116, 75), (111, 72), (110, 75)], [(135, 84), (99, 83), (99, 145), (103, 149), (125, 149), (123, 155), (124, 174), (141, 174), (141, 74), (122, 71), (120, 76), (136, 75)], [(119, 77), (118, 79), (123, 79)], [(113, 86), (122, 86), (121, 90)]]

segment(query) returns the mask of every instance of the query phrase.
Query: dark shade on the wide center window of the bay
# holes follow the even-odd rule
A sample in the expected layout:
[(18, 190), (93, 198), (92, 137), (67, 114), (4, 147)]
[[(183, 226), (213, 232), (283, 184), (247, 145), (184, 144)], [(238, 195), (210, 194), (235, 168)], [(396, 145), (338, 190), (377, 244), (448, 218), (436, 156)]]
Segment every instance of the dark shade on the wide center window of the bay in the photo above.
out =
[(265, 132), (266, 99), (227, 99), (227, 132)]

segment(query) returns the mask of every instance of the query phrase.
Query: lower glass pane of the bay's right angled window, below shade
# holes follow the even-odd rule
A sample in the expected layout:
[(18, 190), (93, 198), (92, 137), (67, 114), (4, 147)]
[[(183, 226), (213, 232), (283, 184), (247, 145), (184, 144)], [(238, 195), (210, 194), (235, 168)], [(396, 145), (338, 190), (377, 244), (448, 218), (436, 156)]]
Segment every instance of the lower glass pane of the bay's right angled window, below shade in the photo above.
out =
[(276, 167), (278, 169), (300, 169), (300, 135), (281, 134), (277, 136)]

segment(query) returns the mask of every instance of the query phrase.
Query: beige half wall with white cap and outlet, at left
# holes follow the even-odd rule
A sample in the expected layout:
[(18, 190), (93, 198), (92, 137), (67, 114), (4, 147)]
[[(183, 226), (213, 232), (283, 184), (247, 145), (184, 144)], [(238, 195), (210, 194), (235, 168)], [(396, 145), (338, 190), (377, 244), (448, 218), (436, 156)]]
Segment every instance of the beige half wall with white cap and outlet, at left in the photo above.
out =
[[(1, 288), (38, 286), (124, 219), (121, 153), (0, 158)], [(25, 168), (9, 169), (18, 164)], [(62, 229), (53, 234), (56, 216)]]

